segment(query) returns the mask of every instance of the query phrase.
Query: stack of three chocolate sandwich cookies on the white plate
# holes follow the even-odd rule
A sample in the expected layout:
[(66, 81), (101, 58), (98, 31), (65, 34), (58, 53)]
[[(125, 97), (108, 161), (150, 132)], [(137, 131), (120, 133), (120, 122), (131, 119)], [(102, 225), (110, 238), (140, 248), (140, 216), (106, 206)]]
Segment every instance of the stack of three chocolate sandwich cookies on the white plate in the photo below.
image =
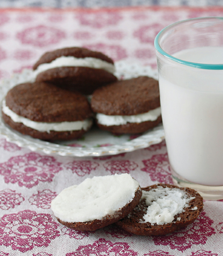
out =
[[(142, 133), (161, 122), (158, 81), (117, 81), (114, 63), (103, 53), (57, 49), (43, 54), (33, 70), (35, 82), (15, 86), (3, 101), (4, 122), (22, 134), (76, 139), (91, 128), (92, 112), (98, 127), (114, 134)], [(91, 93), (89, 106), (84, 95)]]

